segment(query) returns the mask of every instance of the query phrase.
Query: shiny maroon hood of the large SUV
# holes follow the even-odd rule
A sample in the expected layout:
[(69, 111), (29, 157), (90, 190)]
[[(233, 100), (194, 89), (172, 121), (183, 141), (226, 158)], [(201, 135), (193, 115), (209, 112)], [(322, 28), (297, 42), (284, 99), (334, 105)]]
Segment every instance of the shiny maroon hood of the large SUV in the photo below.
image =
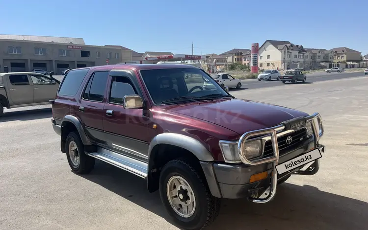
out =
[(242, 99), (219, 99), (161, 107), (225, 127), (239, 135), (269, 128), (285, 120), (308, 114), (282, 106)]

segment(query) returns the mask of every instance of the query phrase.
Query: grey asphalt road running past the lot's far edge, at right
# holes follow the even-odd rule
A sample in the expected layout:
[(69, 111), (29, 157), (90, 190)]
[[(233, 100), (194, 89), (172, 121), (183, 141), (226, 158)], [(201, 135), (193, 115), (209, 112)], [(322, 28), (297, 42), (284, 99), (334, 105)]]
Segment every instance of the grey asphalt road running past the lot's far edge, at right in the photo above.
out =
[[(364, 77), (364, 72), (343, 72), (343, 73), (325, 73), (325, 72), (316, 72), (307, 74), (307, 82), (302, 83), (298, 82), (297, 84), (311, 84), (319, 81), (329, 81), (329, 80), (336, 80), (336, 79), (343, 79), (343, 78), (351, 78), (351, 77)], [(241, 82), (242, 87), (246, 89), (260, 89), (265, 87), (273, 87), (273, 86), (279, 86), (284, 85), (281, 81), (276, 80), (262, 80), (258, 81), (258, 79), (247, 79), (242, 80)], [(292, 83), (286, 83), (285, 87), (289, 87), (288, 85)]]

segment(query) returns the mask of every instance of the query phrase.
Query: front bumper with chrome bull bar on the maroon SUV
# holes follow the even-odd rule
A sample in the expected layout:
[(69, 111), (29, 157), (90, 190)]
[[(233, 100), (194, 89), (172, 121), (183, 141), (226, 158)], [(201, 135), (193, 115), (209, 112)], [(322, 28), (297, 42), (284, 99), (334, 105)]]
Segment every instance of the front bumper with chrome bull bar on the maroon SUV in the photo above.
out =
[[(308, 121), (312, 122), (313, 135), (301, 142), (296, 149), (280, 155), (277, 132), (288, 132), (294, 127), (302, 125), (303, 122), (306, 124)], [(322, 130), (321, 133), (319, 133), (319, 128), (317, 127)], [(243, 151), (245, 142), (248, 138), (262, 135), (270, 135), (274, 150), (273, 156), (267, 156), (257, 160), (247, 159)], [(238, 141), (238, 153), (240, 160), (243, 162), (242, 164), (201, 162), (212, 195), (232, 199), (247, 197), (254, 203), (267, 203), (271, 201), (276, 194), (278, 181), (291, 174), (313, 175), (318, 171), (319, 158), (322, 156), (321, 152), (325, 152), (325, 146), (319, 144), (319, 138), (322, 135), (323, 123), (318, 113), (308, 117), (297, 117), (275, 127), (243, 134)], [(317, 153), (318, 157), (311, 158), (315, 153)], [(309, 159), (312, 161), (301, 163), (304, 162), (301, 158), (307, 155), (309, 155)], [(297, 162), (298, 159), (302, 161)], [(282, 165), (284, 162), (286, 163)], [(289, 167), (285, 166), (291, 165), (291, 162), (293, 162), (293, 166), (289, 166), (290, 170), (286, 170), (285, 168)], [(298, 166), (294, 167), (295, 165)], [(279, 167), (280, 172), (282, 171), (280, 175), (278, 174), (277, 167)], [(267, 178), (250, 183), (252, 175), (262, 172), (267, 172)]]

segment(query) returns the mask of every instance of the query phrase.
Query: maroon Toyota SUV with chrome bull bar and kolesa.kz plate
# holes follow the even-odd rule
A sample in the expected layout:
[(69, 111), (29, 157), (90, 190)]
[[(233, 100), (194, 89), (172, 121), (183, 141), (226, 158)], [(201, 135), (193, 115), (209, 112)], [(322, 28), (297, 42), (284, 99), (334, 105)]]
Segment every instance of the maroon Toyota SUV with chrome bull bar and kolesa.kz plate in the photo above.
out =
[(271, 201), (291, 175), (314, 175), (325, 152), (318, 113), (235, 99), (192, 66), (72, 69), (51, 104), (73, 172), (98, 159), (145, 179), (181, 229), (209, 226), (220, 198)]

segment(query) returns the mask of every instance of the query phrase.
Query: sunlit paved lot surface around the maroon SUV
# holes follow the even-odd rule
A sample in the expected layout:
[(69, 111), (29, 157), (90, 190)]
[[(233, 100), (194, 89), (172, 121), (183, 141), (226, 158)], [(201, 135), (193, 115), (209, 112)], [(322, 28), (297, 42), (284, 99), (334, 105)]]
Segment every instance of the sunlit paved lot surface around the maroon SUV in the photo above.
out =
[[(327, 152), (316, 175), (292, 176), (271, 203), (224, 200), (209, 229), (366, 230), (367, 81), (232, 91), (239, 98), (319, 112)], [(103, 162), (90, 175), (72, 173), (48, 107), (6, 110), (0, 118), (0, 229), (177, 229), (165, 220), (158, 192), (148, 193), (143, 180)]]

